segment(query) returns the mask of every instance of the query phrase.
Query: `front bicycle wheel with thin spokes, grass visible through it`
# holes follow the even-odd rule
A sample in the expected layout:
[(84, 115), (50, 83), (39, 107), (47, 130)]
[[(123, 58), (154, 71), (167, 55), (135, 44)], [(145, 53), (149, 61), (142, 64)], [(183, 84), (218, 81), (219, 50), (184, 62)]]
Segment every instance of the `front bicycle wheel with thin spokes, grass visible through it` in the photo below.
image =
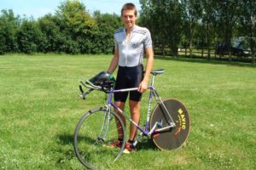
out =
[[(122, 136), (118, 136), (117, 128)], [(80, 119), (74, 132), (73, 146), (76, 156), (85, 167), (106, 169), (121, 156), (125, 148), (125, 143), (120, 148), (110, 146), (111, 142), (119, 138), (125, 139), (125, 126), (119, 116), (105, 108), (97, 108), (88, 111)]]

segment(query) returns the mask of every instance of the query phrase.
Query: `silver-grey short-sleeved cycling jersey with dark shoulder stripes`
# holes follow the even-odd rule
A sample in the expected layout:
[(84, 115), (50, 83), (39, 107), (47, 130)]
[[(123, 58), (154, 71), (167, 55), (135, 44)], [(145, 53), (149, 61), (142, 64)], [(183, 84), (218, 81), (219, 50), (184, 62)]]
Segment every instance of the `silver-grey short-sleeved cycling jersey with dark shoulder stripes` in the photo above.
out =
[(152, 48), (150, 32), (147, 28), (133, 26), (130, 40), (126, 41), (125, 37), (125, 28), (114, 31), (115, 49), (119, 50), (119, 66), (143, 64), (144, 48)]

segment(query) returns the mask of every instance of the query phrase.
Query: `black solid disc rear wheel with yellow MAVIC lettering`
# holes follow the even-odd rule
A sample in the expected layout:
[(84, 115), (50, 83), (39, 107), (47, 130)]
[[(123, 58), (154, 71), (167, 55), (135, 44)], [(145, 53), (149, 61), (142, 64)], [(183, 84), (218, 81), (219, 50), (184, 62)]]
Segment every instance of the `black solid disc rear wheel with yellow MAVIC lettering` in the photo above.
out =
[[(161, 125), (157, 127), (156, 132), (152, 134), (154, 144), (160, 150), (176, 150), (180, 148), (188, 139), (190, 129), (189, 111), (185, 105), (177, 99), (164, 99), (163, 104), (154, 107), (154, 111), (150, 117), (150, 129), (154, 127), (155, 122)], [(170, 118), (167, 111), (172, 116), (176, 127), (169, 127), (158, 132), (160, 128), (169, 126)]]

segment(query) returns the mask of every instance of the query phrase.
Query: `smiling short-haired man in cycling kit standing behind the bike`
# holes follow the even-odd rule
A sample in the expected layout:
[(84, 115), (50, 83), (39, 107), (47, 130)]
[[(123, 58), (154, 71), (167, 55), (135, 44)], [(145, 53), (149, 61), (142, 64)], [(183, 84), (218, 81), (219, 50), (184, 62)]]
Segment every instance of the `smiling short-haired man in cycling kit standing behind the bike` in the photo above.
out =
[[(114, 103), (124, 111), (125, 101), (128, 94), (130, 94), (129, 106), (131, 119), (139, 124), (140, 100), (142, 94), (148, 88), (148, 79), (154, 61), (152, 40), (147, 28), (136, 26), (137, 8), (133, 3), (125, 3), (121, 10), (121, 18), (125, 27), (114, 32), (115, 49), (108, 72), (113, 73), (119, 65), (115, 89), (138, 88), (137, 91), (131, 91), (129, 93), (115, 93)], [(147, 56), (147, 63), (143, 75), (144, 50)], [(118, 111), (116, 112), (118, 113)], [(121, 116), (120, 114), (119, 116), (125, 123), (124, 116)], [(118, 133), (120, 134), (120, 132)], [(130, 153), (132, 150), (135, 150), (134, 140), (136, 133), (137, 127), (131, 124), (130, 136), (128, 142), (125, 144), (124, 153)], [(119, 139), (113, 141), (111, 146), (119, 147), (122, 142), (124, 142), (123, 137), (119, 135)]]

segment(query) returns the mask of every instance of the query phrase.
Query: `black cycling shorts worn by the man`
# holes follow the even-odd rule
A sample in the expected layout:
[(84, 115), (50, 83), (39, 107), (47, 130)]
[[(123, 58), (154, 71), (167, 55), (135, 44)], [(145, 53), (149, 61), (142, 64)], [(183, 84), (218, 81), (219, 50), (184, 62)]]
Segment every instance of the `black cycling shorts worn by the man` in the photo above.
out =
[[(143, 65), (133, 67), (119, 66), (114, 89), (119, 90), (124, 88), (137, 88), (142, 81)], [(137, 90), (114, 93), (113, 99), (114, 101), (125, 102), (128, 94), (130, 94), (129, 99), (132, 101), (140, 101), (142, 99), (142, 93), (138, 92)]]

